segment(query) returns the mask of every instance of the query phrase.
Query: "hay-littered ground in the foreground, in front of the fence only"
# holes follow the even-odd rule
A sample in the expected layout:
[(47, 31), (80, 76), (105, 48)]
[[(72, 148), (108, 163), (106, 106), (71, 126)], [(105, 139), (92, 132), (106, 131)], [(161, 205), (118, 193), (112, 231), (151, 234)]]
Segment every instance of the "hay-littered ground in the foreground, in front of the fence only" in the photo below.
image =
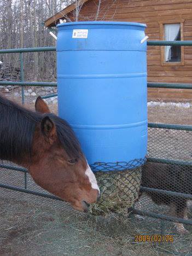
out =
[[(190, 253), (182, 237), (173, 243), (138, 243), (137, 234), (156, 234), (158, 223), (93, 217), (39, 203), (4, 200), (0, 211), (1, 255), (164, 255)], [(172, 230), (168, 227), (168, 234)], [(184, 244), (185, 243), (185, 244)], [(192, 252), (191, 252), (192, 253)], [(184, 254), (187, 255), (187, 254)]]

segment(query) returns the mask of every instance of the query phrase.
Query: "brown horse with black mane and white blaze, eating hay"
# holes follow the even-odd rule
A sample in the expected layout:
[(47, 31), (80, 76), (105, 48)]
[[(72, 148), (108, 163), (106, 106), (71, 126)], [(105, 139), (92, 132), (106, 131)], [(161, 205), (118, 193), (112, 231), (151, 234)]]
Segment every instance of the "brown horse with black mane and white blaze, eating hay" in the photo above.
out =
[(28, 168), (40, 187), (86, 212), (100, 190), (79, 142), (41, 97), (35, 107), (28, 110), (0, 95), (0, 159)]

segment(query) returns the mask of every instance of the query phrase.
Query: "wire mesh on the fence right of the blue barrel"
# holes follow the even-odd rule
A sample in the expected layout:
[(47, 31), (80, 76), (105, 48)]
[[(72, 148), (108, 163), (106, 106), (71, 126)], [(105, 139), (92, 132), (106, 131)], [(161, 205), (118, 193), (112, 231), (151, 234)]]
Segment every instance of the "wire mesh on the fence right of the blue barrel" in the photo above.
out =
[[(135, 208), (149, 216), (180, 219), (192, 225), (192, 131), (149, 128), (148, 135), (150, 161), (142, 170)], [(176, 228), (179, 233), (187, 232), (182, 224), (176, 223)]]

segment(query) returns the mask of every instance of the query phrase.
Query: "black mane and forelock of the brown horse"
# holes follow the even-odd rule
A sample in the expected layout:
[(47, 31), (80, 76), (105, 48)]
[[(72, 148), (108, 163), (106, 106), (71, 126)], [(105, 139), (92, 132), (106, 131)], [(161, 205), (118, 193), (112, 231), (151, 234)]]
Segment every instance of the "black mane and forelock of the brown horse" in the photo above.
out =
[(57, 136), (69, 158), (83, 155), (69, 124), (54, 114), (41, 114), (26, 109), (0, 95), (0, 159), (20, 162), (31, 159), (36, 124), (48, 116), (56, 126)]

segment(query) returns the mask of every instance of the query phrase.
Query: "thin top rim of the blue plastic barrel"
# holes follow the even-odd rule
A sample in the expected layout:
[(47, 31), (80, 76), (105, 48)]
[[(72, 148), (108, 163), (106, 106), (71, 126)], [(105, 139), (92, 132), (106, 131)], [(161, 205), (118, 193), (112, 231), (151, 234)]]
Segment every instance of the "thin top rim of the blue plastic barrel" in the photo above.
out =
[(146, 24), (138, 22), (123, 22), (123, 21), (75, 21), (57, 24), (57, 27), (62, 26), (75, 26), (75, 25), (128, 25), (128, 26), (138, 26), (147, 27)]

